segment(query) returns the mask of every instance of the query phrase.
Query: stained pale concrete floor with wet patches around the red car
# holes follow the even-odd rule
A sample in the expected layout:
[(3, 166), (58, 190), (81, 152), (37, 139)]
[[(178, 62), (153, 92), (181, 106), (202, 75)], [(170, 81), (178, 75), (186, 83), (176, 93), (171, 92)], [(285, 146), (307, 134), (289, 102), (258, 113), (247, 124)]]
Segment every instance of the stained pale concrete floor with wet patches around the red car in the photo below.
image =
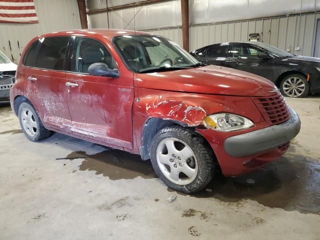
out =
[(194, 195), (138, 155), (58, 133), (31, 142), (0, 103), (0, 239), (320, 239), (320, 97), (286, 100), (302, 121), (288, 152)]

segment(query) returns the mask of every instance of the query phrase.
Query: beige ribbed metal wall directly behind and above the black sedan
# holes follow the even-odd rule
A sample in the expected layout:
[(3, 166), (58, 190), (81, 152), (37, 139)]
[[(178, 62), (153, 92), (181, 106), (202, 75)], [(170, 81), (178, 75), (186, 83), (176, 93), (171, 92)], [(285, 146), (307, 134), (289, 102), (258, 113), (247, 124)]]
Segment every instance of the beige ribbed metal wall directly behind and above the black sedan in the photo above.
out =
[[(260, 40), (289, 50), (294, 54), (312, 56), (316, 20), (320, 13), (268, 17), (253, 20), (199, 24), (189, 27), (190, 51), (196, 48), (224, 41), (246, 41), (249, 33), (259, 33)], [(180, 27), (146, 30), (164, 35), (182, 44)], [(299, 46), (300, 50), (294, 50)]]

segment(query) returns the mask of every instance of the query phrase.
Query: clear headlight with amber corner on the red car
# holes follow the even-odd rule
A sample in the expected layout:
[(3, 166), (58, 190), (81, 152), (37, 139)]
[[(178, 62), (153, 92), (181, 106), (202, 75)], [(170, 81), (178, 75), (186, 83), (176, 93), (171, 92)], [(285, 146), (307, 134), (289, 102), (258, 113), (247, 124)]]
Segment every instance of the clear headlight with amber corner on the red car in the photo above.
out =
[(232, 113), (216, 113), (203, 117), (202, 123), (206, 128), (218, 131), (235, 131), (253, 126), (248, 118)]

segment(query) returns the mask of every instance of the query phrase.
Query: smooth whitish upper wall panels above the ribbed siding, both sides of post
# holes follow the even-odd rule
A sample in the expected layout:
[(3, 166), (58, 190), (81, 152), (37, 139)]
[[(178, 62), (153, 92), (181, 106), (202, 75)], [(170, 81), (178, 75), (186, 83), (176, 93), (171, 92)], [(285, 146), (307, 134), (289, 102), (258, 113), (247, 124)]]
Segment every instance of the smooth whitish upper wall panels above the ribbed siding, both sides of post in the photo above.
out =
[[(142, 0), (86, 0), (86, 8), (87, 11), (93, 11), (139, 1)], [(137, 13), (135, 16), (137, 30), (181, 25), (180, 0), (140, 4), (135, 7), (110, 10), (109, 26), (106, 11), (89, 14), (90, 26), (132, 29), (133, 20), (131, 22), (130, 20), (134, 13)], [(189, 24), (264, 18), (314, 10), (320, 11), (320, 0), (189, 0)], [(127, 25), (128, 23), (130, 24)]]

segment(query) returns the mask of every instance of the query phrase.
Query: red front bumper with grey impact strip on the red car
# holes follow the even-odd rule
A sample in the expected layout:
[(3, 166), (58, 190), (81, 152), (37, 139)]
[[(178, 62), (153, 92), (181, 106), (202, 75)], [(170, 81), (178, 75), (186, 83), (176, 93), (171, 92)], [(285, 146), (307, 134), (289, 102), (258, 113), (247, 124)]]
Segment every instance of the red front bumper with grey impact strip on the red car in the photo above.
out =
[(198, 128), (197, 132), (210, 144), (225, 176), (242, 175), (275, 160), (288, 149), (301, 124), (296, 112), (289, 110), (290, 119), (277, 125), (267, 126), (261, 122), (240, 131)]

